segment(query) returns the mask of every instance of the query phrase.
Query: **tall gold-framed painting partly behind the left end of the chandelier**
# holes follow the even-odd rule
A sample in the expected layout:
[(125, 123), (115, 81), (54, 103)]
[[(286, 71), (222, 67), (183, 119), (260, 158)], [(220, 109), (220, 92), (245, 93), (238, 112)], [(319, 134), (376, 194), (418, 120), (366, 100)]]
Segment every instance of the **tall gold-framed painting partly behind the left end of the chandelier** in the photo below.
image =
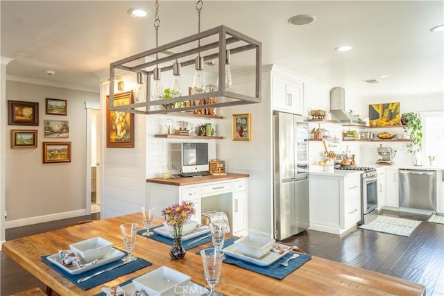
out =
[[(106, 96), (106, 146), (134, 147), (134, 113), (110, 111), (110, 96)], [(114, 94), (114, 106), (134, 103), (133, 91)]]

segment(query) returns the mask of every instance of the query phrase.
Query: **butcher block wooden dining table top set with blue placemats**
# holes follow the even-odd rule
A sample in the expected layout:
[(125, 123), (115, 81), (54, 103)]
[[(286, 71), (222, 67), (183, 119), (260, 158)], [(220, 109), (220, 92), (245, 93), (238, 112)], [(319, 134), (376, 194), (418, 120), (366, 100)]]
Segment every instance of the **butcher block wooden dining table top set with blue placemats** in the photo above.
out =
[[(163, 218), (155, 217), (153, 225), (161, 225), (163, 222)], [(44, 263), (42, 256), (56, 254), (60, 249), (67, 250), (71, 243), (96, 236), (125, 250), (119, 230), (122, 223), (139, 223), (140, 229), (143, 224), (142, 214), (128, 214), (17, 238), (3, 243), (2, 252), (60, 295), (96, 295), (101, 293), (102, 284), (83, 290)], [(153, 264), (108, 281), (105, 285), (119, 285), (161, 266), (168, 266), (189, 275), (194, 283), (206, 286), (202, 260), (196, 252), (211, 245), (209, 242), (194, 247), (187, 250), (185, 258), (171, 260), (169, 245), (138, 236), (133, 254)], [(317, 256), (311, 256), (311, 259), (284, 279), (274, 279), (237, 265), (223, 263), (216, 290), (225, 295), (425, 295), (425, 287), (420, 284)]]

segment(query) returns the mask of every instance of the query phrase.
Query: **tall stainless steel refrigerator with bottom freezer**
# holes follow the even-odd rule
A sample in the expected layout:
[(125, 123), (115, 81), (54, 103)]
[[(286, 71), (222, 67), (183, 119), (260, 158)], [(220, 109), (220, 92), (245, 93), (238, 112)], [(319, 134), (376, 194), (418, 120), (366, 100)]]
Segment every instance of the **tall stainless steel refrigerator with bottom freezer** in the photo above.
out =
[(273, 113), (275, 239), (309, 227), (309, 161), (307, 117)]

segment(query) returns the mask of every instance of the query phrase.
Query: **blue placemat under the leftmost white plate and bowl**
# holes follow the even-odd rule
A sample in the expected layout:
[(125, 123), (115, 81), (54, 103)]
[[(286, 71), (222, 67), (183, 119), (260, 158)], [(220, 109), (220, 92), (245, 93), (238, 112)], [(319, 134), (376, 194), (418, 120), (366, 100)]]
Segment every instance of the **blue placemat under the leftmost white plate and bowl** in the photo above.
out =
[[(123, 252), (123, 251), (122, 251)], [(125, 256), (128, 254), (127, 252), (124, 252)], [(98, 268), (94, 268), (92, 270), (88, 270), (87, 272), (83, 272), (80, 275), (71, 275), (69, 272), (66, 272), (62, 268), (60, 268), (58, 265), (52, 263), (48, 260), (47, 256), (41, 257), (43, 262), (51, 266), (54, 270), (57, 270), (62, 274), (64, 277), (69, 279), (69, 281), (72, 281), (76, 286), (81, 288), (82, 290), (88, 290), (90, 288), (94, 288), (95, 286), (99, 286), (103, 283), (106, 283), (107, 281), (111, 281), (112, 279), (117, 279), (117, 277), (121, 277), (122, 275), (126, 275), (130, 272), (134, 272), (136, 270), (139, 270), (141, 268), (144, 268), (146, 266), (152, 265), (153, 263), (146, 261), (145, 259), (139, 258), (136, 261), (130, 262), (128, 264), (125, 264), (123, 266), (120, 266), (119, 268), (116, 268), (109, 272), (103, 272), (101, 275), (97, 275), (96, 277), (93, 277), (92, 279), (88, 279), (87, 281), (84, 281), (83, 283), (77, 283), (78, 279), (81, 279), (82, 277), (87, 277), (88, 275), (92, 275), (99, 270), (103, 270), (105, 268), (108, 268), (114, 264), (117, 263), (117, 261), (110, 262), (108, 264), (99, 266)], [(119, 259), (121, 260), (121, 259)]]

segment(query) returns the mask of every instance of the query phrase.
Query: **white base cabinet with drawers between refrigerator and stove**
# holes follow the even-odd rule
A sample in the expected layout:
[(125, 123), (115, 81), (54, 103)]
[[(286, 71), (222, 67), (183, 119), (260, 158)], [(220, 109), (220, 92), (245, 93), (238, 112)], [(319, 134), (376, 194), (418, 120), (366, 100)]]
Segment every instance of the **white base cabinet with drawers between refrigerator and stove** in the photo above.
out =
[(310, 175), (310, 229), (343, 234), (361, 220), (361, 177)]

